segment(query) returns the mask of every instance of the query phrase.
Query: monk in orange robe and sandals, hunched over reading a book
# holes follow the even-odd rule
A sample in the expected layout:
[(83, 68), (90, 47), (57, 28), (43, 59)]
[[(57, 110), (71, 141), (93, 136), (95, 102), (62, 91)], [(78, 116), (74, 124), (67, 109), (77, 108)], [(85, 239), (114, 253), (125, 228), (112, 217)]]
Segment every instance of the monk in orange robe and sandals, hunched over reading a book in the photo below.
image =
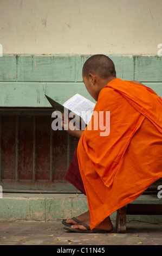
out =
[[(62, 223), (69, 231), (105, 233), (113, 229), (114, 211), (162, 177), (162, 99), (140, 82), (116, 78), (114, 63), (103, 54), (87, 59), (82, 76), (103, 123), (110, 113), (110, 132), (101, 136), (100, 126), (93, 129), (94, 115), (84, 131), (68, 127), (80, 139), (66, 179), (87, 196), (89, 211)], [(69, 119), (63, 118), (66, 127)]]

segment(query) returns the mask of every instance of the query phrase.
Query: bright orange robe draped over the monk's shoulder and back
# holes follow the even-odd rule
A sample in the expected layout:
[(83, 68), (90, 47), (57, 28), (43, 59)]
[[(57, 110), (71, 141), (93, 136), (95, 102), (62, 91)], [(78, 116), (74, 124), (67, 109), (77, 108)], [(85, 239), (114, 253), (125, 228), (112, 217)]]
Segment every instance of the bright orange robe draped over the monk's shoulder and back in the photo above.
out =
[(100, 91), (94, 111), (110, 112), (110, 132), (100, 136), (92, 115), (77, 147), (91, 229), (162, 177), (161, 97), (115, 78)]

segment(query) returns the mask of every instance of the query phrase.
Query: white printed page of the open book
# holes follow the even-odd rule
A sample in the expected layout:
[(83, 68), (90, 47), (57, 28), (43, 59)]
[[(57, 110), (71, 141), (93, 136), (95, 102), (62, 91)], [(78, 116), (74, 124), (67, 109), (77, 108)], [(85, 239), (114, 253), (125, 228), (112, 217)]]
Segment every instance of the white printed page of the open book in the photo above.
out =
[(63, 103), (63, 106), (68, 108), (70, 111), (74, 112), (85, 121), (86, 124), (89, 123), (95, 103), (81, 96), (80, 94), (75, 94), (69, 100)]

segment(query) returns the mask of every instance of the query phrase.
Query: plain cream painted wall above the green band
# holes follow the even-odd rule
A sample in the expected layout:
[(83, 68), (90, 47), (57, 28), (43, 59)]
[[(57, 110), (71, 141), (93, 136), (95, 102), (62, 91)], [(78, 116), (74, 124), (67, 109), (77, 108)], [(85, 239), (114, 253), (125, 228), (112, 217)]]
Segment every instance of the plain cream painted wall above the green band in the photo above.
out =
[(0, 0), (3, 54), (157, 54), (162, 0)]

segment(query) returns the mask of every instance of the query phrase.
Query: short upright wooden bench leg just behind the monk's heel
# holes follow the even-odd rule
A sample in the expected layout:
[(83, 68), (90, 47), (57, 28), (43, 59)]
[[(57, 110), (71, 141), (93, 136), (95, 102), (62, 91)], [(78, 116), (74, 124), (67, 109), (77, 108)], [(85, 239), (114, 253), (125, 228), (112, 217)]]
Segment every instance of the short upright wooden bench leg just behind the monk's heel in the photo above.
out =
[(126, 233), (126, 211), (127, 206), (117, 210), (116, 229), (118, 233)]

